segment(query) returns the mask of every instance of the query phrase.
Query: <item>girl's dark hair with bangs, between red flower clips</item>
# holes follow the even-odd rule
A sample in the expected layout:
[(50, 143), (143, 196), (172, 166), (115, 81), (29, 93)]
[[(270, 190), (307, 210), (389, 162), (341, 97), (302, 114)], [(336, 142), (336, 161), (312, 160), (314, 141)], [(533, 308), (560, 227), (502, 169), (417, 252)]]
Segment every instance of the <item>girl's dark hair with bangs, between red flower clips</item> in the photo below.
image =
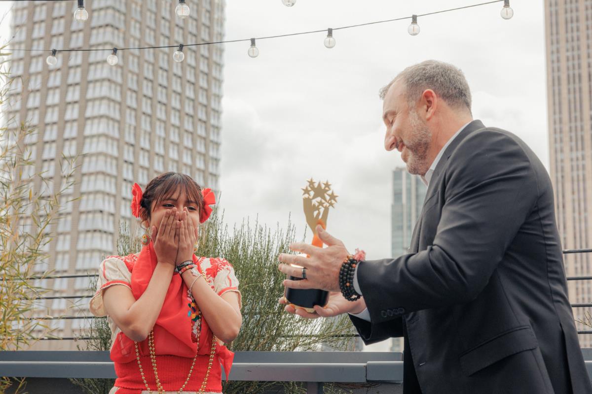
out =
[(154, 204), (175, 195), (178, 188), (185, 191), (187, 199), (197, 203), (200, 213), (204, 210), (204, 196), (201, 194), (201, 187), (189, 177), (179, 172), (165, 172), (153, 178), (147, 185), (140, 201), (140, 219), (150, 221), (150, 213)]

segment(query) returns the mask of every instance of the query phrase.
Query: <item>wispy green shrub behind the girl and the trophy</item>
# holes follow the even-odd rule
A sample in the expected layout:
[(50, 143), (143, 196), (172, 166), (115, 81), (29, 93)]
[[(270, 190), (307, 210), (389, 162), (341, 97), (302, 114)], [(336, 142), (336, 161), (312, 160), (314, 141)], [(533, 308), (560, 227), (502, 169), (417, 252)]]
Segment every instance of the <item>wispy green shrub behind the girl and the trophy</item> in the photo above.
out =
[[(210, 220), (200, 228), (200, 256), (221, 256), (230, 261), (240, 281), (243, 303), (243, 325), (239, 337), (228, 344), (233, 351), (310, 351), (321, 344), (335, 350), (353, 350), (352, 328), (346, 317), (304, 320), (283, 311), (278, 304), (285, 275), (278, 271), (277, 256), (289, 252), (295, 241), (294, 226), (287, 230), (269, 229), (248, 220), (235, 226), (232, 232), (224, 224), (223, 213), (215, 209)], [(130, 235), (127, 226), (120, 227), (118, 254), (127, 255), (140, 250), (138, 235)], [(94, 285), (91, 285), (94, 289)], [(109, 350), (110, 330), (106, 319), (91, 321), (85, 350)], [(94, 381), (94, 382), (91, 382)], [(86, 394), (106, 394), (112, 380), (74, 379)], [(229, 382), (224, 383), (225, 394), (263, 392), (304, 393), (298, 382)], [(327, 393), (348, 392), (327, 385)]]

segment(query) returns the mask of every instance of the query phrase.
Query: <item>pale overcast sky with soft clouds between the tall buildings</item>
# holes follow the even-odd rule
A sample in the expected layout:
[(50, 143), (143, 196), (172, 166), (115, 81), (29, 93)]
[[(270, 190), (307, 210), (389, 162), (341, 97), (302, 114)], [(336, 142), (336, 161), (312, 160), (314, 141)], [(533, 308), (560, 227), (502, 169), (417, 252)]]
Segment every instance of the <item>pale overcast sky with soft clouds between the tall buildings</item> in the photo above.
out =
[[(226, 2), (226, 40), (361, 24), (471, 5), (480, 0), (281, 0)], [(191, 5), (191, 0), (188, 0)], [(362, 5), (363, 4), (363, 5)], [(7, 8), (0, 3), (0, 11)], [(460, 67), (471, 86), (473, 114), (516, 133), (548, 167), (543, 2), (503, 2), (326, 34), (226, 44), (221, 146), (221, 206), (231, 224), (244, 217), (275, 227), (289, 214), (305, 228), (305, 180), (329, 180), (338, 198), (330, 233), (369, 259), (390, 257), (391, 171), (403, 165), (383, 147), (378, 89), (426, 59)], [(7, 24), (2, 37), (7, 37)], [(311, 241), (310, 232), (307, 242)], [(385, 350), (385, 347), (376, 349)]]

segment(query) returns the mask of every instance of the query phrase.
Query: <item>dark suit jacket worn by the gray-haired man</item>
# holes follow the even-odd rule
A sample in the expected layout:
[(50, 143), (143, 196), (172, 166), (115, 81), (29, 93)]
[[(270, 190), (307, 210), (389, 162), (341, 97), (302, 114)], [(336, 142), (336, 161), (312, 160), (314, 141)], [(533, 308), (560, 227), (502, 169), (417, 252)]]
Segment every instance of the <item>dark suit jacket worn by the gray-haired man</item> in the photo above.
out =
[(507, 131), (473, 121), (456, 136), (410, 253), (360, 263), (358, 282), (363, 340), (406, 334), (405, 393), (592, 393), (551, 180)]

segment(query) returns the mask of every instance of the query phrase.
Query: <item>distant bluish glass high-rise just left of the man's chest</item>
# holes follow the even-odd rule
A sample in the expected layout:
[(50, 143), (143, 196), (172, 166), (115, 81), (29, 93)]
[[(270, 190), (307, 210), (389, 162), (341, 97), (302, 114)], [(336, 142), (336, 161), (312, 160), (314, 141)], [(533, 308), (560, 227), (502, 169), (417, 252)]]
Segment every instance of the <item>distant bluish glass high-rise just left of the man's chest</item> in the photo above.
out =
[[(417, 219), (422, 213), (427, 187), (416, 175), (399, 167), (392, 171), (391, 251), (392, 257), (407, 253)], [(403, 338), (392, 338), (391, 351), (403, 351)]]

